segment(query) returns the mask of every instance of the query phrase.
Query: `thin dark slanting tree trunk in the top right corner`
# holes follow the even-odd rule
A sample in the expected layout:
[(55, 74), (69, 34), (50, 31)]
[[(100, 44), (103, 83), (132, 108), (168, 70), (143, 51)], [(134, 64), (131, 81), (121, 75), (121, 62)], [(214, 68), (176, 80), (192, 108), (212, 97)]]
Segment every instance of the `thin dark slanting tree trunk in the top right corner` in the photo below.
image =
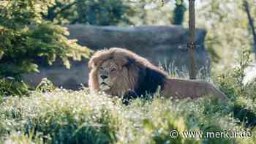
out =
[(249, 4), (246, 0), (244, 0), (244, 10), (245, 10), (245, 12), (247, 14), (247, 17), (248, 17), (248, 20), (249, 20), (249, 26), (252, 29), (252, 35), (253, 35), (253, 40), (254, 40), (253, 50), (255, 52), (255, 60), (256, 60), (256, 31), (255, 31), (255, 25), (254, 25), (253, 20), (252, 20), (252, 15), (249, 11)]

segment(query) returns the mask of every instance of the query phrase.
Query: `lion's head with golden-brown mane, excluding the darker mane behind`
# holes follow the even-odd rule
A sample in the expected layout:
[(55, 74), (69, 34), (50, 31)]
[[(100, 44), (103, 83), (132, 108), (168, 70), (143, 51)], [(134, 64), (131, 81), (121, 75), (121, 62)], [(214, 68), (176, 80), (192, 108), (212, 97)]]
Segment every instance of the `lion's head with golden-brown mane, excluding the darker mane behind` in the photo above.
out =
[[(140, 61), (147, 63), (144, 59)], [(91, 91), (123, 96), (127, 91), (135, 90), (142, 65), (135, 62), (135, 54), (128, 50), (99, 50), (89, 61), (89, 87)]]

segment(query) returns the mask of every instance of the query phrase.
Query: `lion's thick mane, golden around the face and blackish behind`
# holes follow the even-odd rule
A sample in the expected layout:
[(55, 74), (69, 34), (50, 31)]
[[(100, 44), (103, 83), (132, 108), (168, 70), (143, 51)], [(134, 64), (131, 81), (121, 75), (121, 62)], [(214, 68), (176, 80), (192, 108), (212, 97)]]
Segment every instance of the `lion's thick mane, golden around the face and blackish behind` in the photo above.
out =
[(91, 68), (89, 88), (91, 90), (99, 91), (98, 67), (103, 61), (110, 58), (115, 59), (117, 64), (128, 69), (128, 74), (122, 75), (123, 77), (118, 79), (116, 88), (111, 91), (112, 94), (126, 93), (131, 89), (139, 96), (146, 93), (151, 94), (156, 92), (159, 86), (163, 86), (164, 79), (167, 77), (165, 72), (155, 67), (146, 58), (140, 57), (129, 50), (110, 48), (109, 50), (97, 51), (89, 61), (89, 67)]

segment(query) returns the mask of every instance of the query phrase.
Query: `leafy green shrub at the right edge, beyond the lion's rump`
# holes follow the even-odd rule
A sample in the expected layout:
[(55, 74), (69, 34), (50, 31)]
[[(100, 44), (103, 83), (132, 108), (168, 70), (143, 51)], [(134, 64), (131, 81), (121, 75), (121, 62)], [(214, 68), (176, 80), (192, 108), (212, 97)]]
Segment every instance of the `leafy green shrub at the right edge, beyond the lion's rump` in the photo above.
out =
[(243, 50), (240, 58), (236, 58), (238, 66), (230, 69), (227, 73), (219, 77), (219, 86), (225, 94), (234, 102), (233, 113), (241, 123), (246, 126), (255, 126), (255, 87), (256, 83), (252, 80), (244, 83), (245, 69), (250, 66), (250, 50)]

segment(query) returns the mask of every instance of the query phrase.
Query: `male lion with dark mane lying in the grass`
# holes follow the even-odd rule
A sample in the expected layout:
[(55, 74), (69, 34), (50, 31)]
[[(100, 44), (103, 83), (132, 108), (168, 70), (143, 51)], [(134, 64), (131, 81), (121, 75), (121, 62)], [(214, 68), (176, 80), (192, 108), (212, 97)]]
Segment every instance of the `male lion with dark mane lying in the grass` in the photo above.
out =
[(89, 88), (121, 99), (131, 99), (160, 90), (164, 97), (191, 98), (227, 96), (205, 80), (169, 78), (146, 58), (123, 48), (98, 50), (89, 60)]

